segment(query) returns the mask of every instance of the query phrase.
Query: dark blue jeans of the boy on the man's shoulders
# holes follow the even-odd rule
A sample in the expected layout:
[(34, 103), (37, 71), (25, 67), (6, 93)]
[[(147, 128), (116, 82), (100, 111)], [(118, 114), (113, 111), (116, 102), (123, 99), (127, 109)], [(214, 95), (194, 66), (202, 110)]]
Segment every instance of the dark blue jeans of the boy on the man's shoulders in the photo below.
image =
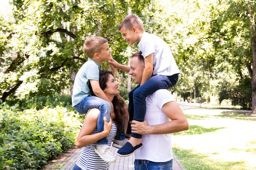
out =
[[(146, 97), (159, 89), (168, 89), (178, 81), (179, 74), (171, 76), (155, 75), (148, 79), (142, 86), (137, 86), (129, 93), (129, 105), (133, 104), (133, 120), (144, 121), (146, 114)], [(132, 96), (133, 100), (130, 98)], [(129, 107), (129, 106), (128, 106)], [(130, 106), (131, 107), (131, 106)], [(128, 111), (132, 111), (128, 109)], [(130, 114), (130, 112), (129, 112)], [(130, 114), (130, 117), (132, 115)], [(132, 137), (142, 138), (142, 135), (132, 133)]]

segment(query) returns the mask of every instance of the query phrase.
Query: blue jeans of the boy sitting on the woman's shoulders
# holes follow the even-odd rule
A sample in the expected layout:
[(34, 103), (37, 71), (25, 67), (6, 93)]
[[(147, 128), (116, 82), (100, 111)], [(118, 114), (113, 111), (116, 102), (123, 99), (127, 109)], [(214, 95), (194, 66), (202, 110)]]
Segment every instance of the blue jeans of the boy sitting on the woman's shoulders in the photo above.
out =
[[(97, 121), (97, 132), (102, 132), (104, 129), (104, 120), (103, 117), (106, 116), (107, 121), (110, 119), (110, 110), (111, 106), (106, 100), (101, 99), (96, 96), (87, 96), (85, 97), (79, 104), (74, 106), (75, 110), (78, 113), (86, 114), (90, 108), (98, 108), (99, 109), (99, 117)], [(98, 141), (98, 144), (107, 145), (108, 139), (104, 137)]]

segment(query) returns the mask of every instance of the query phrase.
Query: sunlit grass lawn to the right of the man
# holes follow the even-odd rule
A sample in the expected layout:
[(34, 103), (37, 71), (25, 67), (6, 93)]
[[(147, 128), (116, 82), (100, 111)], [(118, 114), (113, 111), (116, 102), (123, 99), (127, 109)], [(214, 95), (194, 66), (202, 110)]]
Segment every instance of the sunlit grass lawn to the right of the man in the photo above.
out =
[(182, 110), (190, 127), (172, 142), (186, 170), (256, 170), (256, 117), (203, 104)]

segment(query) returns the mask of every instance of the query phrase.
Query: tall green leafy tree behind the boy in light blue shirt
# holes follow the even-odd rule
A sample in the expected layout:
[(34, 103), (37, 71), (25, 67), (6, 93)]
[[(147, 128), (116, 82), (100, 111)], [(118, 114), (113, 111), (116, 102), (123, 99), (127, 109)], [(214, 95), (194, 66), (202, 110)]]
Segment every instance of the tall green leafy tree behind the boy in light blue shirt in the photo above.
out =
[(128, 44), (117, 32), (118, 23), (129, 11), (140, 15), (148, 4), (150, 0), (13, 0), (13, 22), (4, 17), (0, 22), (2, 102), (68, 88), (87, 60), (82, 46), (91, 36), (108, 39), (112, 57), (127, 64), (123, 52)]

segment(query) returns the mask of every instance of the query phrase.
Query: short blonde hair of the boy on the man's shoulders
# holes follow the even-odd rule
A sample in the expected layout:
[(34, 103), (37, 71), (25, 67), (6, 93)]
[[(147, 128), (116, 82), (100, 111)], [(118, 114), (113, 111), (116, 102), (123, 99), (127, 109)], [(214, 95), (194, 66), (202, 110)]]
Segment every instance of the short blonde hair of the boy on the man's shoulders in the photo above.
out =
[(120, 31), (122, 27), (126, 29), (132, 29), (132, 27), (136, 27), (137, 29), (144, 31), (142, 20), (137, 15), (134, 15), (134, 14), (128, 14), (126, 18), (124, 18), (120, 22), (117, 31)]

